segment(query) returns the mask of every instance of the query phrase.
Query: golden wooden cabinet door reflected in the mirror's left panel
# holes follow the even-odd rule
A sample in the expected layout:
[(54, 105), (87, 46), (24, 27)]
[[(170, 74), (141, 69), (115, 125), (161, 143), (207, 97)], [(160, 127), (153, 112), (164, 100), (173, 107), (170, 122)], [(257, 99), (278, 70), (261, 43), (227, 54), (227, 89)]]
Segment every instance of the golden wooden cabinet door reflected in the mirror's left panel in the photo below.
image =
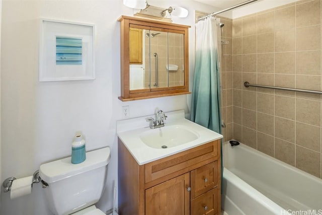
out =
[(142, 29), (130, 28), (130, 64), (142, 64)]

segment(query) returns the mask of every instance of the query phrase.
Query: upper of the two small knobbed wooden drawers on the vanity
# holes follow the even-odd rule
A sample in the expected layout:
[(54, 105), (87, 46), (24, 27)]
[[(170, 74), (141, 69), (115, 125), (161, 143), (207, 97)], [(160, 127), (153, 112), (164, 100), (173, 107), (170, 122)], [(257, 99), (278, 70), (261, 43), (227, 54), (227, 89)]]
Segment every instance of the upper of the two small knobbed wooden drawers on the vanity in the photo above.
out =
[(214, 161), (190, 172), (191, 199), (218, 185), (218, 162)]

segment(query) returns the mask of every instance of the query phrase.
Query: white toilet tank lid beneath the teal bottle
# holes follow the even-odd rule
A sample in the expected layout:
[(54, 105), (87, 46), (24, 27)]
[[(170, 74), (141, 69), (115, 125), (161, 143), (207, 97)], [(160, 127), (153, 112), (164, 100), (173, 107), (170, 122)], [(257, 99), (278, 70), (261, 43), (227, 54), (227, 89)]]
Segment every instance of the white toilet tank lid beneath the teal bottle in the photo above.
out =
[(74, 175), (106, 166), (111, 159), (109, 147), (86, 153), (86, 160), (79, 164), (72, 164), (71, 157), (42, 164), (39, 176), (47, 183), (53, 183)]

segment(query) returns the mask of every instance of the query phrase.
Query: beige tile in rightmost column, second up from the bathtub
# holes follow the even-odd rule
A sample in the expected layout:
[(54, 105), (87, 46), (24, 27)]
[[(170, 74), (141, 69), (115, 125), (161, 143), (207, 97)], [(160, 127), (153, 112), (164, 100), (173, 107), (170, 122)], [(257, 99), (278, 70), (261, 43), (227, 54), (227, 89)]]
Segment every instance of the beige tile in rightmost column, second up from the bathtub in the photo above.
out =
[(318, 126), (296, 122), (296, 145), (320, 152), (320, 131)]

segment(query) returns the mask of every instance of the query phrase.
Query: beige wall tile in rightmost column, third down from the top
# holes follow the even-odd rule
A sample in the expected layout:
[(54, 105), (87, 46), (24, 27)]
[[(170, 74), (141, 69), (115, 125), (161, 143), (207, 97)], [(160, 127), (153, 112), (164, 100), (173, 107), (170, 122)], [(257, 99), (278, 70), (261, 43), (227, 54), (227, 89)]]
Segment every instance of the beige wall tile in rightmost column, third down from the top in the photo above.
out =
[(321, 75), (321, 51), (296, 52), (296, 74)]

